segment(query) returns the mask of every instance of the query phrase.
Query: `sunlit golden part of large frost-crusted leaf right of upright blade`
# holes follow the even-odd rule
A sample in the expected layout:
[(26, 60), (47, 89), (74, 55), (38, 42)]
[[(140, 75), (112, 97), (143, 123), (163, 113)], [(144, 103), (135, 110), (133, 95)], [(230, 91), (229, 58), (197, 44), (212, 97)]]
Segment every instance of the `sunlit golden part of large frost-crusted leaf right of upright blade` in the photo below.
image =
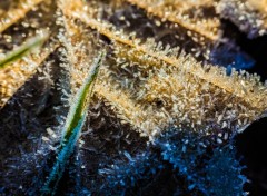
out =
[[(190, 55), (176, 57), (176, 49), (158, 50), (154, 40), (141, 43), (112, 24), (93, 19), (85, 11), (88, 10), (86, 7), (79, 9), (72, 4), (72, 8), (76, 10), (65, 9), (65, 14), (81, 20), (108, 37), (112, 41), (117, 61), (139, 66), (137, 80), (140, 80), (142, 72), (152, 72), (138, 88), (123, 88), (123, 81), (119, 77), (113, 84), (108, 81), (98, 88), (103, 86), (101, 89), (106, 91), (100, 92), (101, 96), (106, 96), (110, 105), (120, 111), (120, 116), (134, 127), (139, 127), (144, 135), (158, 134), (169, 124), (206, 131), (214, 131), (211, 127), (215, 125), (218, 128), (226, 126), (231, 130), (243, 129), (246, 125), (239, 125), (238, 119), (246, 119), (249, 124), (266, 111), (267, 88), (260, 84), (259, 77), (234, 70), (231, 76), (227, 76), (225, 68), (201, 66)], [(121, 68), (118, 68), (115, 74), (120, 76)], [(109, 71), (112, 75), (115, 70), (107, 70)], [(137, 80), (129, 78), (131, 84), (138, 82)], [(116, 89), (121, 90), (117, 94)], [(138, 100), (135, 100), (137, 96), (131, 96), (141, 94)], [(125, 96), (120, 99), (119, 95)], [(157, 100), (166, 102), (162, 108), (158, 108)], [(218, 120), (225, 112), (225, 120)]]

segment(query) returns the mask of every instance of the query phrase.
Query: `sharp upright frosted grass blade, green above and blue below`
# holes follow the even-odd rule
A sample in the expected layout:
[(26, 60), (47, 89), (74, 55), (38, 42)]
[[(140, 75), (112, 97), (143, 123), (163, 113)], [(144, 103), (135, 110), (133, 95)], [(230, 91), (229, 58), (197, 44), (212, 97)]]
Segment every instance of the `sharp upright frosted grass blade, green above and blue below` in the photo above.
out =
[(97, 78), (99, 67), (105, 56), (106, 55), (103, 51), (99, 55), (93, 66), (91, 67), (87, 79), (75, 96), (73, 104), (70, 106), (70, 110), (62, 131), (62, 140), (59, 147), (58, 157), (44, 183), (44, 186), (41, 189), (42, 195), (56, 194), (58, 183), (65, 171), (65, 166), (75, 149), (76, 143), (85, 124), (93, 88), (93, 81)]

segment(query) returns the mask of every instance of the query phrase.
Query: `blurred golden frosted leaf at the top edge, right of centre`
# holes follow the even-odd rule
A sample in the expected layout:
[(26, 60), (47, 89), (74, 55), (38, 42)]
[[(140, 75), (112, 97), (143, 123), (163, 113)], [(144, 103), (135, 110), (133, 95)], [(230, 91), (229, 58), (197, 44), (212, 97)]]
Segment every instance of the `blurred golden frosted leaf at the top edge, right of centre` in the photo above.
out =
[[(195, 31), (201, 36), (218, 40), (220, 21), (216, 17), (214, 0), (126, 0), (138, 8), (147, 11), (148, 14), (159, 17), (162, 21), (168, 20)], [(205, 12), (205, 10), (207, 10)]]

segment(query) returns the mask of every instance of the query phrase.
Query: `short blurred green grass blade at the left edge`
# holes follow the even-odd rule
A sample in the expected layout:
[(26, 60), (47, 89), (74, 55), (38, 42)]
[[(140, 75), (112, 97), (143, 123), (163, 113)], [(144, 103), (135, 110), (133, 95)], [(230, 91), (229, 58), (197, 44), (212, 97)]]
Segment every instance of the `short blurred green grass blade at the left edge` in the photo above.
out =
[(44, 31), (42, 35), (38, 35), (26, 41), (24, 45), (14, 49), (0, 59), (0, 69), (7, 67), (9, 63), (22, 58), (24, 55), (32, 51), (34, 48), (41, 46), (48, 39), (48, 33)]

